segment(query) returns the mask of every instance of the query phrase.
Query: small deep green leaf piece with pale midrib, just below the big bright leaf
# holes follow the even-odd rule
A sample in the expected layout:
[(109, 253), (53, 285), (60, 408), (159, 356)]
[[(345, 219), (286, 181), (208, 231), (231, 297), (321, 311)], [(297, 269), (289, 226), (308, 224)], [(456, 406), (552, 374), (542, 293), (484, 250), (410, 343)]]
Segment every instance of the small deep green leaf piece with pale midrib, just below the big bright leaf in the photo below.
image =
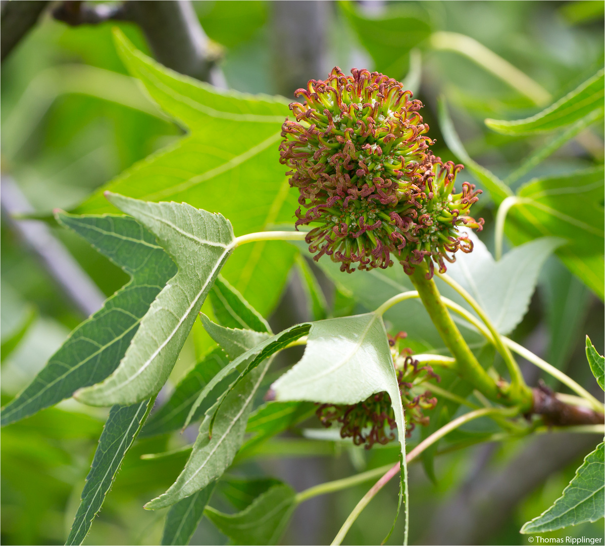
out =
[(229, 328), (244, 328), (255, 332), (271, 332), (263, 315), (259, 314), (233, 286), (218, 276), (210, 292), (212, 310), (218, 322)]

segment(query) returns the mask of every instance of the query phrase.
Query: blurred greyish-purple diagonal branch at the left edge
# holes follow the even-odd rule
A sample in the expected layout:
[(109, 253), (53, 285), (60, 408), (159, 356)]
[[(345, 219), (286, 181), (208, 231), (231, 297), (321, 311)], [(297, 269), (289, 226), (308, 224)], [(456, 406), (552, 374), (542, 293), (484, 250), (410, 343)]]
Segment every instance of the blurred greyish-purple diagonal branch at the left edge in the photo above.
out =
[(18, 220), (14, 217), (16, 214), (33, 211), (15, 180), (3, 174), (1, 185), (2, 212), (5, 213), (8, 223), (38, 255), (45, 268), (82, 314), (87, 317), (92, 315), (105, 301), (103, 293), (63, 243), (51, 234), (45, 222)]

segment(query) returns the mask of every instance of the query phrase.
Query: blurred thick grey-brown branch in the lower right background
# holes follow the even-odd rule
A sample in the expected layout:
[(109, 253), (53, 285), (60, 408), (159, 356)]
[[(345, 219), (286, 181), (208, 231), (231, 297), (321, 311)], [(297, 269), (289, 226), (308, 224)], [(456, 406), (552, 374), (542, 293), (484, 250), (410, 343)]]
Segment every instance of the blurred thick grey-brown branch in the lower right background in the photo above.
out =
[(531, 439), (501, 470), (489, 468), (493, 452), (484, 446), (465, 484), (434, 510), (419, 544), (489, 544), (520, 501), (597, 443), (595, 435), (547, 433)]

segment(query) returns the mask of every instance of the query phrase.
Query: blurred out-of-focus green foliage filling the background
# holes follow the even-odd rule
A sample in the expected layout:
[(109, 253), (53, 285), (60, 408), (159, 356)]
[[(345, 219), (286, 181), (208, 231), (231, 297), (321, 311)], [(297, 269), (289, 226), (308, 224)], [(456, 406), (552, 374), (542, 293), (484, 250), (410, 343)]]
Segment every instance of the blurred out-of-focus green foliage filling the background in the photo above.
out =
[[(284, 36), (278, 27), (281, 15), (276, 13), (277, 2), (217, 0), (194, 4), (204, 31), (220, 44), (219, 66), (229, 87), (293, 96), (292, 78), (284, 76), (288, 67), (280, 43)], [(431, 34), (453, 31), (471, 36), (528, 74), (553, 100), (603, 67), (602, 1), (318, 4), (321, 10), (316, 10), (319, 15), (314, 16), (321, 17), (321, 21), (315, 22), (325, 38), (316, 63), (321, 72), (308, 77), (321, 79), (339, 65), (343, 70), (365, 67), (405, 78), (426, 105), (423, 116), (431, 127), (430, 136), (437, 140), (436, 154), (454, 159), (437, 122), (437, 99), (444, 96), (469, 155), (500, 177), (511, 173), (546, 137), (501, 136), (489, 131), (483, 119), (518, 119), (540, 108), (477, 62), (433, 47)], [(136, 82), (126, 77), (111, 39), (111, 27), (116, 24), (137, 47), (149, 53), (145, 38), (134, 24), (111, 22), (72, 28), (47, 14), (2, 64), (2, 173), (15, 179), (41, 217), (49, 217), (54, 208), (73, 209), (91, 191), (183, 135), (181, 128), (155, 110)], [(300, 33), (314, 31), (312, 19), (301, 20), (300, 24)], [(295, 41), (297, 36), (289, 39)], [(300, 87), (305, 82), (296, 83)], [(603, 127), (598, 125), (526, 173), (515, 186), (532, 177), (569, 173), (602, 162)], [(476, 182), (470, 173), (464, 174)], [(483, 196), (478, 205), (482, 211), (476, 215), (486, 219), (482, 238), (491, 248), (489, 197)], [(103, 294), (113, 294), (125, 283), (125, 274), (116, 266), (76, 235), (50, 224), (53, 234), (64, 242)], [(4, 404), (44, 366), (83, 317), (5, 217), (0, 237), (2, 342), (15, 338), (19, 331), (25, 332), (10, 354), (6, 354), (8, 346), (2, 347)], [(296, 288), (296, 282), (293, 275), (290, 286), (293, 283)], [(325, 279), (322, 286), (333, 301)], [(336, 304), (342, 301), (336, 298)], [(303, 300), (301, 305), (304, 308), (306, 302)], [(272, 321), (285, 326), (294, 323), (296, 317), (289, 315), (289, 306), (292, 294), (286, 294), (281, 304), (272, 302)], [(514, 338), (592, 387), (583, 355), (584, 334), (590, 335), (602, 354), (603, 304), (553, 257), (541, 274), (528, 315)], [(193, 361), (195, 347), (188, 344), (173, 373), (174, 380)], [(535, 371), (529, 367), (526, 371), (530, 384), (535, 384)], [(68, 400), (2, 430), (2, 544), (63, 544), (105, 416), (104, 410)], [(150, 460), (140, 455), (186, 442), (172, 436), (137, 441), (86, 544), (159, 543), (165, 514), (145, 511), (142, 505), (174, 481), (184, 459), (175, 455)], [(552, 504), (581, 458), (592, 449), (587, 444), (586, 449), (571, 453), (569, 460), (558, 464), (539, 460), (548, 459), (549, 449), (557, 450), (557, 445), (535, 439), (445, 454), (437, 459), (436, 483), (428, 480), (421, 465), (413, 465), (411, 544), (431, 544), (431, 540), (448, 536), (456, 536), (460, 544), (528, 544), (518, 529)], [(348, 444), (329, 442), (329, 447), (308, 454), (289, 453), (280, 459), (267, 450), (238, 472), (275, 474), (301, 490), (395, 459), (392, 449), (364, 452)], [(541, 467), (548, 472), (542, 475)], [(535, 479), (536, 473), (540, 479)], [(511, 493), (503, 488), (509, 481), (527, 486), (513, 487)], [(302, 505), (284, 543), (329, 543), (367, 487)], [(482, 495), (489, 498), (483, 499)], [(379, 544), (390, 528), (396, 497), (396, 484), (390, 484), (362, 513), (345, 543)], [(483, 504), (495, 512), (486, 514)], [(401, 543), (401, 527), (400, 521), (391, 544)], [(603, 521), (548, 536), (567, 534), (602, 537)], [(226, 541), (203, 521), (191, 544)]]

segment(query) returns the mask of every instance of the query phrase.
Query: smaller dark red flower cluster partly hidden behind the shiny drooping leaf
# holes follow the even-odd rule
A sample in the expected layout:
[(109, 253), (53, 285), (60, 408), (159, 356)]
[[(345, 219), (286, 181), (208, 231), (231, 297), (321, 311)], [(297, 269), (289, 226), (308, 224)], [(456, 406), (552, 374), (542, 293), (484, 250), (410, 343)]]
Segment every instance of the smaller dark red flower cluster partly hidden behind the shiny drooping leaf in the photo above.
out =
[[(405, 435), (410, 436), (416, 424), (428, 425), (429, 418), (422, 410), (433, 409), (437, 404), (430, 391), (413, 395), (411, 389), (427, 378), (437, 381), (440, 378), (430, 366), (419, 366), (418, 361), (411, 357), (410, 349), (399, 349), (399, 340), (404, 338), (404, 332), (399, 332), (394, 338), (389, 336), (389, 344), (405, 410)], [(365, 449), (370, 449), (375, 443), (384, 445), (395, 439), (392, 431), (397, 425), (387, 392), (373, 394), (357, 404), (321, 404), (316, 415), (325, 427), (338, 423), (341, 438), (353, 438), (356, 446), (365, 444)]]

